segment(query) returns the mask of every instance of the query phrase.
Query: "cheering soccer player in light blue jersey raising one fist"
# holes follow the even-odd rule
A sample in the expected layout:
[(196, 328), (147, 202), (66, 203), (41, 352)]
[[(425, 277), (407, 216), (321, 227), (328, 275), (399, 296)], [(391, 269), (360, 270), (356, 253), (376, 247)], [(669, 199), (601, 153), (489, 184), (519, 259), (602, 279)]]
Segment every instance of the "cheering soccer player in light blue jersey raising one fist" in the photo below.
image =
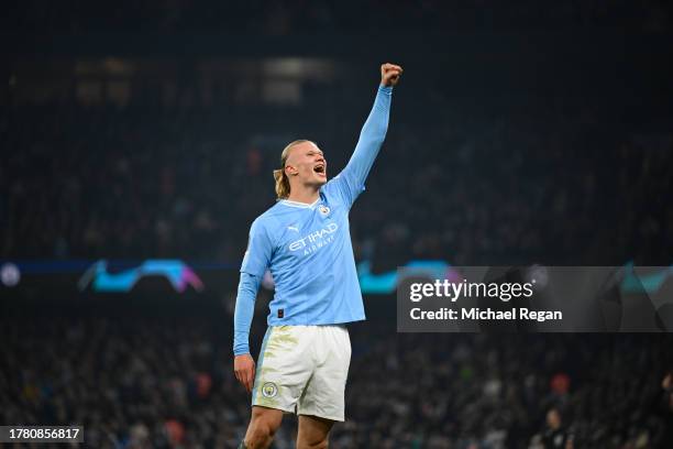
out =
[[(316, 143), (298, 140), (274, 172), (278, 201), (255, 219), (241, 265), (234, 313), (234, 373), (252, 393), (252, 418), (239, 448), (271, 446), (284, 413), (299, 420), (297, 448), (327, 448), (344, 420), (351, 341), (344, 326), (365, 319), (349, 211), (386, 136), (393, 87), (402, 69), (380, 66), (380, 85), (345, 168), (327, 180)], [(255, 363), (249, 333), (266, 270), (276, 286), (268, 329)]]

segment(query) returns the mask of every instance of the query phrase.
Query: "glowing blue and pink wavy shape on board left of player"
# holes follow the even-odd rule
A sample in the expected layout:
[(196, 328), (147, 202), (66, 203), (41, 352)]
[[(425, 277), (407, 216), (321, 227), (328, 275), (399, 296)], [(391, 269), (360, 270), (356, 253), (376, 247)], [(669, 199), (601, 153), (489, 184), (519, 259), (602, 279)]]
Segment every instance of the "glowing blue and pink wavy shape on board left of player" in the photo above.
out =
[(110, 273), (108, 261), (100, 260), (85, 272), (77, 285), (80, 291), (90, 284), (95, 292), (126, 293), (133, 289), (141, 278), (148, 276), (165, 277), (178, 293), (184, 293), (188, 285), (191, 285), (197, 292), (203, 289), (203, 283), (199, 276), (183, 261), (157, 259), (147, 260), (136, 267), (119, 273)]

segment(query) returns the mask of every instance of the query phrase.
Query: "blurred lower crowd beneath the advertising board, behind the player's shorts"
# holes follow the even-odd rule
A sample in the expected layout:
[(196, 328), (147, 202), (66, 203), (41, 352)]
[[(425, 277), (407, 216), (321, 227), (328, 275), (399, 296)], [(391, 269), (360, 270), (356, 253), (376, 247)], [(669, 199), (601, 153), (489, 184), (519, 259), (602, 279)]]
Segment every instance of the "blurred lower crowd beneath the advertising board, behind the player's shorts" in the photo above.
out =
[[(1, 322), (0, 420), (78, 423), (87, 447), (234, 448), (247, 396), (231, 375), (229, 319)], [(389, 325), (388, 325), (389, 326)], [(263, 326), (255, 326), (253, 341)], [(670, 335), (394, 335), (352, 327), (345, 448), (544, 448), (555, 407), (575, 448), (670, 447)], [(35, 357), (40, 354), (40, 357)], [(294, 448), (287, 416), (274, 448)]]

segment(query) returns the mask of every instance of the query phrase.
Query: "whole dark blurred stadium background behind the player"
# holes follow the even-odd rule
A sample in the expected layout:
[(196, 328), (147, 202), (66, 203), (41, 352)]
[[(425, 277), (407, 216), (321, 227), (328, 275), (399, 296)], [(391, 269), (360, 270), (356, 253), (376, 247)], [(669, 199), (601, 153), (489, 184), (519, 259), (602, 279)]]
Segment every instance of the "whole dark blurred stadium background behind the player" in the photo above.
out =
[[(21, 280), (0, 287), (1, 424), (82, 424), (87, 447), (235, 447), (250, 223), (274, 202), (287, 142), (318, 142), (330, 177), (343, 167), (384, 62), (405, 74), (351, 213), (357, 262), (673, 262), (665, 2), (2, 9), (0, 264)], [(179, 259), (205, 289), (79, 289), (101, 259), (111, 272)], [(397, 335), (394, 300), (367, 295), (369, 320), (351, 328), (331, 447), (534, 448), (552, 406), (576, 448), (668, 447), (670, 336)]]

